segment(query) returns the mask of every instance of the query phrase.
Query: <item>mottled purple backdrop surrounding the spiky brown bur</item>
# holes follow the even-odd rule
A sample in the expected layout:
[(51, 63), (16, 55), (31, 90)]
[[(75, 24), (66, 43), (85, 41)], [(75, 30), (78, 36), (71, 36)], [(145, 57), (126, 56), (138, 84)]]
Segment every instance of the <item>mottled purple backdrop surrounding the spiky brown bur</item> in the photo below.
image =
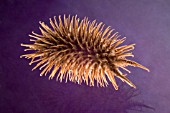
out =
[[(100, 106), (100, 110), (103, 107), (108, 113), (109, 107), (114, 106), (110, 97), (115, 91), (111, 85), (99, 89), (49, 81), (48, 77), (39, 77), (39, 70), (32, 72), (28, 60), (19, 58), (24, 53), (20, 43), (29, 42), (31, 31), (39, 32), (38, 22), (48, 23), (50, 17), (63, 14), (97, 19), (126, 36), (125, 44), (136, 43), (134, 60), (151, 70), (147, 73), (129, 68), (132, 71), (129, 78), (141, 92), (136, 99), (156, 109), (147, 113), (170, 113), (169, 6), (169, 0), (1, 1), (0, 113), (46, 113), (62, 107), (63, 112), (74, 109), (80, 113), (80, 106), (87, 112), (88, 109), (98, 112), (96, 107)], [(91, 101), (92, 105), (88, 104)]]

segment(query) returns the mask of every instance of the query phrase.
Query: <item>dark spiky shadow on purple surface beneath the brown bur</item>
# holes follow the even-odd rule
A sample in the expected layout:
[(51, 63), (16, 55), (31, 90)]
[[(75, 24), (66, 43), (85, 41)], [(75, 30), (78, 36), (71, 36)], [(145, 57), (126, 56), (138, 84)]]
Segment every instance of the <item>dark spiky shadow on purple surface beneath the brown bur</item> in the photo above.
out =
[[(65, 87), (67, 86), (67, 87)], [(141, 113), (153, 107), (135, 99), (139, 91), (120, 85), (112, 87), (81, 87), (68, 83), (46, 90), (38, 95), (44, 113)], [(47, 93), (48, 92), (48, 93)]]

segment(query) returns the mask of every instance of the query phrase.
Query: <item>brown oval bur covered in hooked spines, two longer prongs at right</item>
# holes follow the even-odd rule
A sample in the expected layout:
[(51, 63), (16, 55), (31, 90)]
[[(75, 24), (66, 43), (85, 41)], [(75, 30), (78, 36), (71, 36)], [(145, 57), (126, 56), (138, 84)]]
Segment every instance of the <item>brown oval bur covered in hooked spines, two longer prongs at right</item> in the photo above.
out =
[[(40, 67), (41, 76), (51, 71), (49, 79), (52, 79), (57, 70), (57, 80), (69, 79), (72, 82), (81, 84), (84, 81), (87, 85), (94, 86), (96, 80), (97, 86), (107, 86), (108, 80), (117, 90), (115, 77), (120, 78), (131, 87), (135, 85), (128, 80), (119, 68), (130, 73), (126, 66), (134, 66), (149, 71), (141, 64), (128, 60), (126, 57), (133, 57), (130, 52), (135, 44), (120, 46), (125, 41), (125, 37), (118, 39), (118, 32), (112, 34), (110, 26), (104, 29), (104, 24), (88, 21), (85, 17), (80, 21), (77, 16), (64, 15), (62, 22), (59, 16), (59, 23), (54, 17), (50, 18), (52, 28), (49, 28), (44, 22), (40, 22), (41, 35), (32, 32), (29, 35), (33, 39), (33, 44), (21, 44), (27, 47), (27, 50), (34, 50), (34, 53), (25, 54), (21, 57), (31, 58), (30, 65), (37, 62), (32, 69)], [(60, 68), (60, 69), (59, 69)]]

